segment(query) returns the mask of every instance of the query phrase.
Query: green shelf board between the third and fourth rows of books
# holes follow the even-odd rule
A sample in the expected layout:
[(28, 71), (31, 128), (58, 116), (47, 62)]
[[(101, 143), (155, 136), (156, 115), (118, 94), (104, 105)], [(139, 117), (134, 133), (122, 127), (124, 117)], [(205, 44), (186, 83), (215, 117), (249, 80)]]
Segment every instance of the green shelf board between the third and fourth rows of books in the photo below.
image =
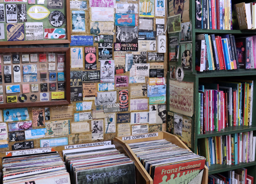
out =
[(221, 136), (229, 134), (237, 134), (239, 132), (248, 132), (256, 130), (256, 126), (230, 126), (222, 131), (207, 131), (205, 134), (197, 135), (198, 139), (209, 138), (212, 136)]

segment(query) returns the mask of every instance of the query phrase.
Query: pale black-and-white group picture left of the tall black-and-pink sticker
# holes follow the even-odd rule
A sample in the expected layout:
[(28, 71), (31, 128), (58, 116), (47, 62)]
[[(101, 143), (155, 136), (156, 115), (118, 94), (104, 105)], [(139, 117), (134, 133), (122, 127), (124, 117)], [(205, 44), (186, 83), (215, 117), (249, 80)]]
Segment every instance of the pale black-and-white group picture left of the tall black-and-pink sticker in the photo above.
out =
[(95, 105), (115, 104), (115, 102), (117, 102), (116, 91), (97, 92)]

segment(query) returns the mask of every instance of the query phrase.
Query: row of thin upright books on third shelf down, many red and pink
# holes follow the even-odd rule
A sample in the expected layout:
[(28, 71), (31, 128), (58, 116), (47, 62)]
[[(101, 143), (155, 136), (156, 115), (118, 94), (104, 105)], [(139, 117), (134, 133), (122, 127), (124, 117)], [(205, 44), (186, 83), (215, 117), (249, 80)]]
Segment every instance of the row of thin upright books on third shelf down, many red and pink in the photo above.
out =
[(251, 126), (253, 80), (199, 85), (198, 134), (230, 126)]

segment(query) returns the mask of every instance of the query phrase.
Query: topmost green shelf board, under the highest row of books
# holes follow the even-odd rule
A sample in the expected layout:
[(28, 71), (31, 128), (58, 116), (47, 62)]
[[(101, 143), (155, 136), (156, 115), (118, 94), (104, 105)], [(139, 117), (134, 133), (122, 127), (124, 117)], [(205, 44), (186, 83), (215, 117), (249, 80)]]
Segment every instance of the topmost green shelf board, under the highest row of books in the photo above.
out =
[(222, 30), (222, 29), (194, 29), (197, 33), (207, 33), (207, 34), (255, 34), (256, 29), (253, 30)]

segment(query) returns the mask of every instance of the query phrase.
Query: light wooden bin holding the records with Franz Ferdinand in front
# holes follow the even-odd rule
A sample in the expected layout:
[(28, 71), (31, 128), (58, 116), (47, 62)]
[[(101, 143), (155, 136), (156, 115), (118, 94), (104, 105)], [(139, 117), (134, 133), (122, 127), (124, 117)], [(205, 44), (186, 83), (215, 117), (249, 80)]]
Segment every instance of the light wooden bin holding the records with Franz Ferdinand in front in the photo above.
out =
[[(138, 160), (137, 156), (133, 153), (131, 148), (128, 144), (130, 143), (138, 143), (138, 142), (144, 142), (148, 140), (159, 140), (159, 139), (166, 139), (171, 143), (176, 144), (177, 146), (181, 148), (189, 149), (177, 136), (169, 134), (167, 132), (157, 132), (158, 136), (154, 136), (151, 138), (142, 138), (142, 139), (133, 139), (133, 140), (122, 140), (124, 137), (116, 137), (113, 139), (113, 144), (118, 149), (118, 151), (121, 151), (122, 153), (125, 153), (126, 156), (129, 156), (130, 159), (134, 160), (135, 164), (135, 173), (136, 173), (136, 183), (139, 184), (153, 184), (153, 179), (150, 177), (150, 175), (147, 173), (146, 169), (143, 167), (141, 162)], [(152, 133), (154, 134), (154, 133)], [(137, 136), (137, 135), (135, 135)], [(190, 150), (190, 149), (189, 149)], [(202, 184), (208, 183), (208, 168), (207, 166), (204, 166), (204, 174), (202, 179)]]

